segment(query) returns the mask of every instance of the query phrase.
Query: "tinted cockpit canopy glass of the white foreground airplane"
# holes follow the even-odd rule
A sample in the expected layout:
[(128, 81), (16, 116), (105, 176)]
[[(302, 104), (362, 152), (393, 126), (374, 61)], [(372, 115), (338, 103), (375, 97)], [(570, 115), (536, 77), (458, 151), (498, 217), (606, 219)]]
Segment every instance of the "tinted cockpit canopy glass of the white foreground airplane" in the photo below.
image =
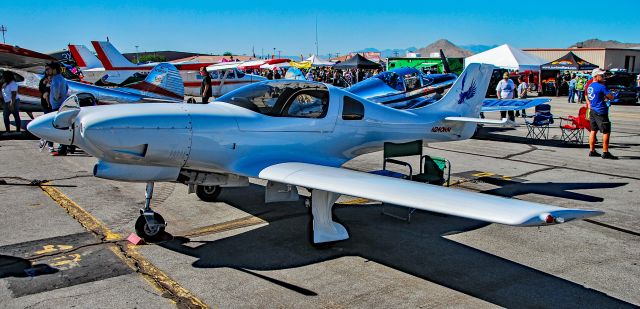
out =
[(266, 81), (229, 92), (217, 101), (273, 117), (323, 118), (329, 89), (315, 82)]

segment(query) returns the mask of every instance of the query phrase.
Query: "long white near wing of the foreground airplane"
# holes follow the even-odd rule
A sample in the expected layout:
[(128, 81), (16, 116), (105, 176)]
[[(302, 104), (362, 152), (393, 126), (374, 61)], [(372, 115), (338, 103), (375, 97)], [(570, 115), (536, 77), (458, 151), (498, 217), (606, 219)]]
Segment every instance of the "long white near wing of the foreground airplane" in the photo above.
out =
[(259, 177), (306, 188), (515, 226), (562, 223), (603, 214), (507, 199), (387, 176), (308, 163), (280, 163)]

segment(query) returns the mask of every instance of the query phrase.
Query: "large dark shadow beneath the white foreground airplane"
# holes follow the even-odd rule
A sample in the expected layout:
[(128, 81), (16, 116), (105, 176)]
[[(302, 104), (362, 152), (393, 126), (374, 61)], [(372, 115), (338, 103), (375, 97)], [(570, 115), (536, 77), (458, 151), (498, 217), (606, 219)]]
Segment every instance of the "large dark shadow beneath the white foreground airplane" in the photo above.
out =
[[(484, 222), (419, 211), (407, 224), (381, 216), (380, 206), (335, 206), (337, 221), (347, 227), (350, 239), (316, 249), (308, 242), (310, 217), (302, 202), (264, 204), (263, 198), (264, 187), (255, 185), (225, 189), (221, 195), (223, 202), (269, 222), (266, 226), (216, 241), (187, 245), (189, 239), (176, 238), (161, 246), (198, 258), (193, 263), (197, 268), (229, 267), (252, 274), (359, 256), (503, 307), (633, 306), (442, 237), (488, 225)], [(269, 281), (303, 295), (316, 294), (312, 286)]]

